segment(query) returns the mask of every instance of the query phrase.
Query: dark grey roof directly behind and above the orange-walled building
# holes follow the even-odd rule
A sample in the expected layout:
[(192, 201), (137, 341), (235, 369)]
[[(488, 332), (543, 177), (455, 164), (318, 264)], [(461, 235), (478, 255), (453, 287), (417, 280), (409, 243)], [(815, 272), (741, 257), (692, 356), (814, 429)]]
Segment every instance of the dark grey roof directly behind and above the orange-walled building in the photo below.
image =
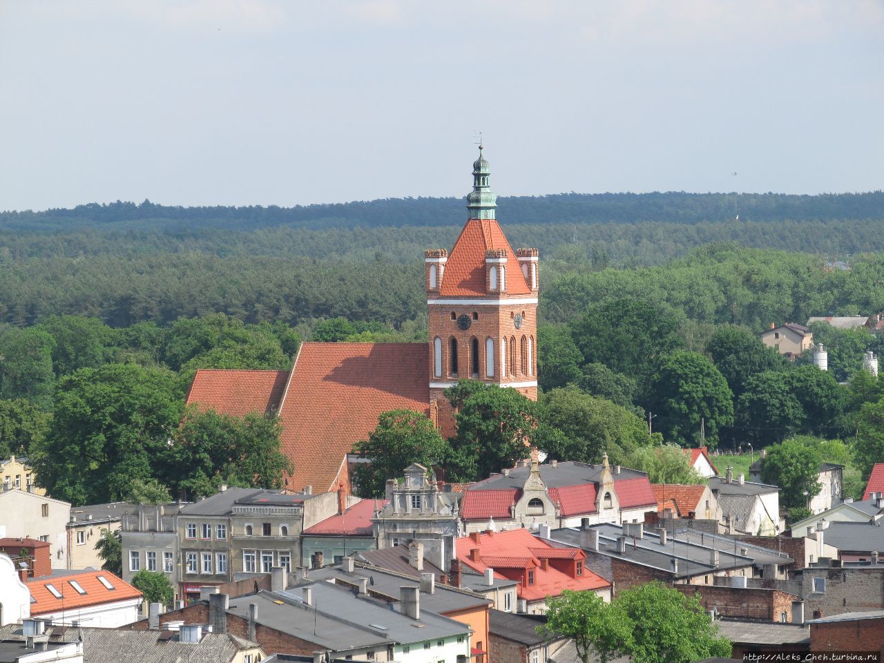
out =
[[(400, 599), (400, 587), (419, 587), (420, 580), (416, 575), (405, 575), (389, 571), (385, 568), (372, 567), (356, 562), (354, 573), (348, 574), (340, 565), (310, 569), (309, 580), (331, 580), (339, 578), (344, 583), (357, 584), (359, 578), (370, 579), (370, 590), (382, 594), (392, 601)], [(302, 584), (302, 583), (299, 583)], [(488, 598), (477, 595), (473, 591), (461, 590), (444, 584), (436, 584), (432, 594), (421, 592), (421, 605), (434, 613), (447, 613), (452, 610), (464, 610), (469, 607), (488, 606)], [(422, 608), (423, 609), (423, 608)]]

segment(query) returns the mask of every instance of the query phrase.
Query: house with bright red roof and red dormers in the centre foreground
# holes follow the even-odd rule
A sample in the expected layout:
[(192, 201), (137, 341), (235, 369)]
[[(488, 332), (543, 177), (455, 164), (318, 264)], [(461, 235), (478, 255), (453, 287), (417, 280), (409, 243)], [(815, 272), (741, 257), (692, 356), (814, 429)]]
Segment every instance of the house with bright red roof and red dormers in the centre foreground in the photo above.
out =
[(611, 600), (611, 583), (586, 567), (583, 550), (555, 547), (529, 530), (471, 532), (457, 540), (457, 559), (462, 568), (516, 581), (519, 613), (545, 613), (546, 600), (565, 590)]

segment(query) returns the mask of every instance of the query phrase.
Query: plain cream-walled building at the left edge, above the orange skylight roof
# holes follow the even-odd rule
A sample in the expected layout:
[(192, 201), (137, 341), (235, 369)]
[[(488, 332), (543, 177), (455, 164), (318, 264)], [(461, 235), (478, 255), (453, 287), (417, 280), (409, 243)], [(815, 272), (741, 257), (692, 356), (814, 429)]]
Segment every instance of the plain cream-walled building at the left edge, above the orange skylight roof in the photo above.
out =
[(71, 505), (4, 484), (0, 492), (0, 537), (36, 538), (50, 545), (52, 568), (67, 568), (67, 533)]

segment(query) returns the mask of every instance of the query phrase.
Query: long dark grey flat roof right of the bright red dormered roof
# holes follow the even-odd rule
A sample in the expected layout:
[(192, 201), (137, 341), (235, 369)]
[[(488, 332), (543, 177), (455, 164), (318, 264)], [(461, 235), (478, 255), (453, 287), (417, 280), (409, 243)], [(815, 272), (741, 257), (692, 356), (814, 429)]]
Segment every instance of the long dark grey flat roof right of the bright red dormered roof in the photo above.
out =
[[(673, 574), (675, 578), (691, 577), (715, 573), (727, 568), (747, 568), (755, 565), (755, 559), (750, 555), (741, 553), (734, 554), (729, 545), (722, 545), (720, 541), (712, 541), (708, 545), (695, 541), (695, 534), (684, 536), (676, 533), (667, 537), (667, 544), (660, 545), (659, 535), (647, 530), (643, 538), (627, 537), (624, 552), (617, 552), (617, 538), (623, 536), (621, 526), (614, 524), (594, 525), (592, 530), (598, 530), (598, 552), (620, 560), (631, 561), (645, 567), (657, 568), (671, 573), (672, 561), (678, 562), (678, 571)], [(561, 528), (552, 530), (550, 538), (553, 542), (560, 542), (575, 547), (580, 547), (580, 530), (576, 528)], [(729, 543), (729, 542), (728, 542)], [(748, 547), (740, 545), (738, 547)], [(712, 552), (719, 551), (719, 564), (713, 566)], [(590, 556), (593, 552), (590, 551)], [(779, 558), (778, 558), (779, 559)], [(779, 563), (786, 563), (789, 558), (782, 558)]]

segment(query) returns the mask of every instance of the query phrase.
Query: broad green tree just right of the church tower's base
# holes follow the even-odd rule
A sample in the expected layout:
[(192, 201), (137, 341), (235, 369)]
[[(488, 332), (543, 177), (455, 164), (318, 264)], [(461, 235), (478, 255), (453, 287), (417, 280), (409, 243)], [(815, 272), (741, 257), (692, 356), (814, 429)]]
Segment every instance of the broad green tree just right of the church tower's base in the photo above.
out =
[(546, 392), (540, 402), (542, 422), (562, 433), (560, 446), (544, 449), (552, 458), (596, 463), (607, 453), (612, 463), (622, 464), (636, 448), (651, 445), (644, 421), (573, 385)]

